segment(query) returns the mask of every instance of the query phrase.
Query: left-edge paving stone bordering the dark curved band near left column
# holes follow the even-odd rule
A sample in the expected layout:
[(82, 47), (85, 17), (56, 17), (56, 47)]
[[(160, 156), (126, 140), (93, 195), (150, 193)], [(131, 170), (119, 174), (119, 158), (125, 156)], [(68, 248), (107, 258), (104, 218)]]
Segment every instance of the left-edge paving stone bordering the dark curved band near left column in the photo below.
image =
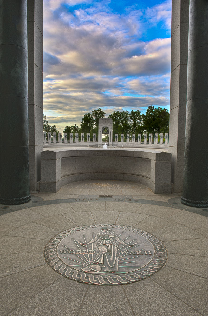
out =
[(20, 227), (36, 219), (44, 217), (35, 210), (24, 209), (1, 215), (1, 224)]

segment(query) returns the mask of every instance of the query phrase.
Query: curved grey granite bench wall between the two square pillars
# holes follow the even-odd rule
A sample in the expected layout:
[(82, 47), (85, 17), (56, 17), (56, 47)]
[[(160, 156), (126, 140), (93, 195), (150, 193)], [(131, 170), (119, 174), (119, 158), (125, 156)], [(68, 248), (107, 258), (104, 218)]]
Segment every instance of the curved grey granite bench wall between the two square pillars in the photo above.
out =
[(154, 193), (170, 193), (171, 154), (145, 149), (45, 150), (41, 152), (40, 192), (57, 192), (83, 180), (123, 180), (140, 183)]

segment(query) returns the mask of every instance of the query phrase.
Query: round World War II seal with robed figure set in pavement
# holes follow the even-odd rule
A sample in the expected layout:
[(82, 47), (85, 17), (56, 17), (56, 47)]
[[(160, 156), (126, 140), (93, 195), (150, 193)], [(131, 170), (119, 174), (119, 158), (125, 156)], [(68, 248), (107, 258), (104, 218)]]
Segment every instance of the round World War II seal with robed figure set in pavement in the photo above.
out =
[(123, 225), (86, 225), (54, 236), (46, 262), (61, 275), (83, 283), (114, 285), (142, 280), (162, 268), (163, 243), (150, 233)]

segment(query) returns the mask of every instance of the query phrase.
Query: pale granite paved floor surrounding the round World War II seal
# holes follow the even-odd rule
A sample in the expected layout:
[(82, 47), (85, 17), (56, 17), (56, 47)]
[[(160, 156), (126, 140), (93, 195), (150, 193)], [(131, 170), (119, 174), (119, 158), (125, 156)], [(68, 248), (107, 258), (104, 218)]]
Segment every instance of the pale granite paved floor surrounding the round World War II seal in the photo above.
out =
[[(112, 196), (99, 197), (99, 196)], [(207, 210), (144, 185), (82, 181), (57, 193), (34, 193), (28, 204), (1, 212), (1, 316), (208, 315)], [(88, 285), (55, 272), (43, 256), (56, 234), (92, 224), (145, 230), (167, 247), (154, 275), (125, 285)]]

